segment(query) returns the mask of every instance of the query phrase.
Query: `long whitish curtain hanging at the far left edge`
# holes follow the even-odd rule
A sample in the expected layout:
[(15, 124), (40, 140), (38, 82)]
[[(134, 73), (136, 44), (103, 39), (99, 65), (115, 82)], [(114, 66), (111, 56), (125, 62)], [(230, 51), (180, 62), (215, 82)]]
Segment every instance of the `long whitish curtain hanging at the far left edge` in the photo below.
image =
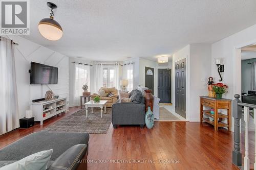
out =
[(11, 40), (0, 40), (0, 134), (19, 127), (18, 99), (14, 63), (14, 48)]

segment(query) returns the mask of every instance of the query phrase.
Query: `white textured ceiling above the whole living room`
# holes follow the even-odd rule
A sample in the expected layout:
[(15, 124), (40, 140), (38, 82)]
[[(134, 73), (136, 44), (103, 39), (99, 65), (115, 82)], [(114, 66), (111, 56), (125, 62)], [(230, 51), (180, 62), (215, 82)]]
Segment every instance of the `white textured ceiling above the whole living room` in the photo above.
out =
[(44, 39), (37, 23), (49, 17), (41, 0), (30, 1), (29, 40), (71, 57), (122, 61), (154, 59), (191, 43), (212, 43), (256, 23), (255, 0), (53, 0), (63, 29)]

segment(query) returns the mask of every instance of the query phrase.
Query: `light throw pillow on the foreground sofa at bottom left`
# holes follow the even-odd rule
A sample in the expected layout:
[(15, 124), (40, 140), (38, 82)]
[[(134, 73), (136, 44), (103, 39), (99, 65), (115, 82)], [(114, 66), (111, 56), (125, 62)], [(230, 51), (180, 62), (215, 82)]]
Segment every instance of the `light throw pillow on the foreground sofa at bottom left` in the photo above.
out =
[(29, 155), (16, 162), (1, 167), (1, 170), (13, 170), (13, 169), (33, 169), (42, 170), (47, 168), (47, 164), (52, 156), (52, 149), (48, 151), (41, 151), (35, 154)]

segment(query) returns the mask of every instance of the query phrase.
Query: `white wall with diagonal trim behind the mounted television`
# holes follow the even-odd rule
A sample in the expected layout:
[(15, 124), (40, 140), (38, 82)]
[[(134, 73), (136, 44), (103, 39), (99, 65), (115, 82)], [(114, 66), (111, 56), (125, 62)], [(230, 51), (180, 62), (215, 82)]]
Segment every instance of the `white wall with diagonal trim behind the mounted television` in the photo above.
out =
[(28, 70), (31, 61), (58, 67), (58, 84), (49, 85), (49, 87), (60, 98), (68, 98), (69, 57), (22, 37), (8, 36), (7, 38), (19, 44), (16, 45), (15, 50), (15, 66), (20, 118), (24, 117), (25, 111), (30, 109), (33, 99), (44, 98), (46, 91), (49, 90), (45, 85), (30, 85)]

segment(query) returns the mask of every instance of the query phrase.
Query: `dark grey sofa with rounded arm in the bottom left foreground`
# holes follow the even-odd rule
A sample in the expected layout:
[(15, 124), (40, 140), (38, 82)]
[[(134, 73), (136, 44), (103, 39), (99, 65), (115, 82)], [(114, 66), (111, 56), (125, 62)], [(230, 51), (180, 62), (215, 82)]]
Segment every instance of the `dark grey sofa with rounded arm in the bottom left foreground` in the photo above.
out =
[(48, 169), (87, 169), (86, 162), (78, 163), (77, 160), (87, 159), (88, 142), (88, 133), (35, 132), (1, 149), (0, 167), (31, 154), (53, 149)]

